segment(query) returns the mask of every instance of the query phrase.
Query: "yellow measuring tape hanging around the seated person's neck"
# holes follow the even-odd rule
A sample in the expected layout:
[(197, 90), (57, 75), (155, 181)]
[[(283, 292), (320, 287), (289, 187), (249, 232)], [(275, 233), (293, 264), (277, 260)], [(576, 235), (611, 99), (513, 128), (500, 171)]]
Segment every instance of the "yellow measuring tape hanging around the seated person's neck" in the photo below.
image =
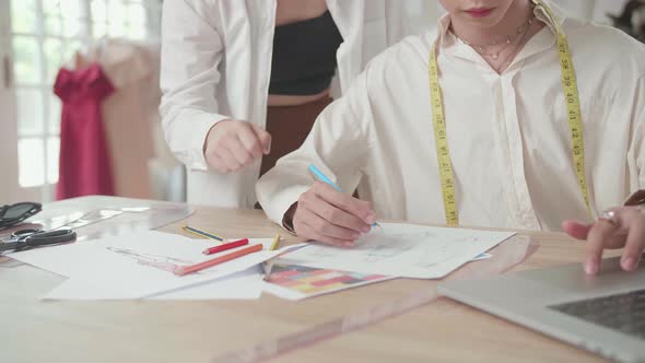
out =
[[(558, 52), (560, 55), (560, 69), (562, 79), (562, 90), (565, 96), (566, 113), (568, 119), (568, 128), (571, 130), (572, 156), (575, 167), (576, 177), (587, 213), (589, 219), (593, 219), (591, 208), (589, 206), (589, 191), (587, 188), (587, 178), (585, 176), (585, 139), (583, 136), (583, 118), (580, 113), (580, 97), (578, 94), (578, 85), (573, 67), (571, 51), (568, 49), (568, 40), (566, 35), (560, 28), (555, 21), (555, 16), (551, 9), (544, 3), (538, 1), (538, 5), (542, 7), (558, 28)], [(432, 124), (434, 127), (434, 140), (436, 147), (436, 157), (439, 168), (439, 178), (442, 184), (442, 194), (444, 197), (444, 210), (446, 213), (446, 223), (452, 226), (459, 225), (459, 214), (457, 212), (457, 201), (455, 197), (455, 174), (453, 172), (453, 162), (450, 160), (450, 151), (448, 149), (448, 140), (446, 132), (446, 120), (444, 113), (444, 103), (442, 97), (442, 89), (438, 78), (438, 63), (436, 60), (436, 42), (430, 51), (430, 90), (431, 90), (431, 105), (432, 105)]]

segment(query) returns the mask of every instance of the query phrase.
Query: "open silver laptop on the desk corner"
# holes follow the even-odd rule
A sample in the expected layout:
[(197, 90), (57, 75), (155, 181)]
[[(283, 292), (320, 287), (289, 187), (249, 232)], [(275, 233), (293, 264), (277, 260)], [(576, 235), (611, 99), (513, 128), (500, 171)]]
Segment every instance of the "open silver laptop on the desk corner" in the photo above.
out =
[(450, 280), (438, 292), (621, 362), (645, 362), (645, 264), (634, 272), (605, 259), (596, 277), (582, 264)]

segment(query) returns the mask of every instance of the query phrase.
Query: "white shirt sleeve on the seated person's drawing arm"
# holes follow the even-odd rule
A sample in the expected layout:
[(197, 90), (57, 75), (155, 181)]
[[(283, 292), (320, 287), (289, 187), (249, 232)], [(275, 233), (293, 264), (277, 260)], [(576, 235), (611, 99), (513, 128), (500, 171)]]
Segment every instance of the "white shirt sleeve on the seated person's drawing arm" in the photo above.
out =
[(318, 116), (303, 145), (280, 159), (260, 178), (256, 191), (269, 219), (282, 225), (286, 210), (314, 184), (307, 169), (309, 164), (316, 165), (345, 192), (354, 191), (372, 148), (368, 134), (373, 116), (368, 97), (364, 72)]

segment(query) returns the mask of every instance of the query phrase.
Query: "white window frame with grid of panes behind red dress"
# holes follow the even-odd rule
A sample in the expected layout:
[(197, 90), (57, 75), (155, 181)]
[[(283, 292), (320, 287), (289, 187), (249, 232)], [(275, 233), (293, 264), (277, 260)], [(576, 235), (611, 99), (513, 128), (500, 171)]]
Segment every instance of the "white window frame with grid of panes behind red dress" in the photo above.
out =
[[(104, 0), (105, 8), (107, 9), (110, 5), (110, 2), (115, 2), (117, 7), (122, 7), (124, 11), (128, 11), (131, 4), (138, 4), (141, 8), (137, 9), (139, 14), (143, 14), (143, 23), (139, 21), (131, 22), (131, 16), (125, 16), (126, 20), (119, 22), (110, 22), (110, 16), (94, 16), (95, 14), (92, 13), (93, 1), (91, 0), (75, 0), (79, 3), (79, 12), (74, 17), (74, 25), (77, 25), (75, 33), (69, 34), (66, 33), (64, 30), (66, 24), (66, 16), (63, 14), (63, 10), (61, 4), (58, 3), (56, 7), (59, 7), (57, 11), (55, 11), (55, 15), (58, 17), (56, 22), (58, 22), (60, 27), (57, 31), (48, 33), (46, 30), (46, 22), (47, 17), (44, 11), (44, 0), (34, 0), (34, 10), (35, 10), (35, 17), (34, 23), (30, 25), (30, 30), (33, 32), (25, 32), (21, 30), (21, 32), (14, 32), (11, 17), (12, 17), (12, 3), (14, 1), (21, 0), (9, 0), (9, 1), (0, 1), (0, 45), (2, 45), (2, 49), (5, 49), (3, 54), (2, 49), (0, 49), (0, 60), (2, 60), (2, 65), (8, 65), (3, 67), (4, 70), (3, 81), (4, 89), (0, 92), (0, 106), (2, 109), (9, 109), (9, 112), (4, 113), (4, 117), (9, 117), (9, 122), (2, 122), (3, 126), (0, 127), (0, 132), (4, 134), (4, 137), (0, 137), (0, 152), (2, 155), (8, 155), (9, 157), (2, 163), (4, 167), (9, 168), (9, 173), (7, 175), (11, 176), (9, 178), (4, 178), (3, 182), (0, 182), (0, 190), (14, 190), (16, 195), (20, 196), (33, 196), (39, 198), (34, 200), (42, 200), (42, 201), (50, 201), (55, 197), (55, 188), (57, 185), (57, 180), (50, 178), (50, 173), (54, 168), (58, 169), (58, 165), (52, 165), (58, 160), (58, 155), (52, 155), (49, 153), (48, 150), (50, 148), (50, 142), (56, 142), (55, 139), (60, 138), (60, 129), (58, 127), (52, 127), (55, 116), (54, 114), (57, 112), (58, 107), (55, 107), (56, 96), (52, 96), (52, 84), (55, 82), (56, 74), (48, 74), (48, 68), (51, 68), (50, 57), (48, 55), (51, 54), (47, 48), (47, 45), (50, 44), (51, 39), (60, 42), (60, 48), (56, 48), (58, 51), (54, 54), (60, 55), (60, 58), (54, 58), (60, 60), (61, 62), (69, 61), (72, 58), (73, 51), (79, 51), (82, 49), (86, 49), (92, 47), (92, 45), (99, 42), (94, 37), (94, 26), (97, 23), (102, 23), (105, 26), (106, 35), (105, 37), (110, 36), (110, 30), (117, 30), (118, 33), (124, 34), (125, 28), (131, 28), (132, 26), (143, 26), (139, 28), (136, 34), (138, 34), (138, 40), (142, 42), (156, 42), (160, 38), (161, 28), (159, 28), (161, 23), (161, 0)], [(72, 3), (73, 5), (73, 3)], [(117, 8), (118, 9), (118, 8)], [(136, 8), (134, 8), (136, 9)], [(51, 16), (51, 15), (49, 15)], [(140, 19), (141, 16), (137, 16)], [(121, 17), (119, 17), (121, 19)], [(68, 17), (69, 20), (69, 17)], [(117, 24), (116, 26), (113, 24)], [(78, 28), (78, 30), (77, 30)], [(127, 34), (126, 34), (127, 35)], [(36, 46), (35, 54), (34, 54), (34, 72), (37, 72), (38, 78), (37, 82), (21, 82), (19, 77), (16, 77), (15, 71), (15, 49), (14, 49), (14, 39), (15, 38), (31, 38), (33, 44)], [(102, 36), (103, 38), (103, 36)], [(122, 38), (122, 37), (121, 37)], [(80, 47), (80, 49), (79, 49)], [(56, 57), (56, 56), (55, 56)], [(60, 65), (63, 67), (64, 65)], [(51, 72), (55, 73), (55, 68), (51, 69)], [(21, 92), (24, 91), (35, 91), (34, 96), (39, 97), (38, 104), (42, 104), (42, 109), (37, 109), (35, 112), (34, 117), (39, 117), (40, 120), (37, 121), (37, 126), (33, 130), (21, 130), (21, 109), (19, 109), (19, 95)], [(34, 101), (35, 102), (35, 101)], [(24, 108), (23, 108), (24, 109)], [(4, 132), (7, 130), (7, 132)], [(13, 136), (13, 137), (10, 137)], [(34, 164), (32, 161), (25, 161), (25, 157), (31, 156), (23, 156), (21, 159), (19, 150), (21, 149), (21, 142), (26, 142), (24, 140), (38, 140), (38, 143), (42, 145), (42, 155), (39, 156), (37, 162), (42, 164), (42, 171), (38, 172), (38, 176), (42, 175), (40, 180), (42, 184), (34, 185), (34, 186), (22, 186), (20, 180), (23, 177), (24, 169), (27, 167), (27, 164)], [(54, 141), (51, 141), (54, 140)], [(23, 143), (24, 145), (24, 143)], [(24, 148), (24, 147), (22, 147)], [(40, 147), (38, 147), (39, 149)], [(55, 147), (54, 147), (55, 148)], [(24, 150), (24, 149), (23, 149)], [(21, 165), (23, 169), (21, 171)], [(28, 166), (32, 167), (32, 166)], [(38, 166), (40, 167), (40, 166)], [(21, 174), (23, 173), (23, 174)], [(8, 179), (14, 180), (8, 180)], [(9, 184), (12, 184), (11, 188)], [(13, 191), (12, 191), (13, 194)], [(2, 197), (2, 191), (0, 191), (0, 197)], [(3, 199), (3, 198), (2, 198)]]

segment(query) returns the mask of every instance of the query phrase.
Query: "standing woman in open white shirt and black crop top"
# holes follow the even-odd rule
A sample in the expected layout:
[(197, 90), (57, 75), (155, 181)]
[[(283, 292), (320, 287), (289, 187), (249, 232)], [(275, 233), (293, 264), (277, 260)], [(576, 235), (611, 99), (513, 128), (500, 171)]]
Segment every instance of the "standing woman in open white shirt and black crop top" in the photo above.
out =
[(335, 74), (345, 91), (407, 34), (401, 3), (165, 1), (161, 114), (188, 169), (188, 201), (253, 207), (259, 175), (302, 144), (330, 103)]

